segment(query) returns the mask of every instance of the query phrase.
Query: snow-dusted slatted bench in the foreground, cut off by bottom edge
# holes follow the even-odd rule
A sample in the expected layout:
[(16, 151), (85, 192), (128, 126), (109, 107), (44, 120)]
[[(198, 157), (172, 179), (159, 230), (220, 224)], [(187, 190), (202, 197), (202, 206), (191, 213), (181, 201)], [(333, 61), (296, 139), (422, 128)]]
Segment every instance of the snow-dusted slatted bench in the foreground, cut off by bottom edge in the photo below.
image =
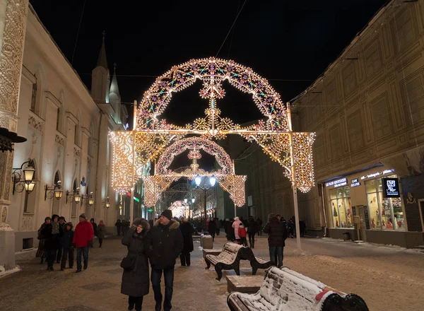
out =
[(368, 311), (358, 295), (346, 295), (287, 267), (275, 266), (266, 271), (256, 294), (234, 292), (227, 303), (232, 311)]

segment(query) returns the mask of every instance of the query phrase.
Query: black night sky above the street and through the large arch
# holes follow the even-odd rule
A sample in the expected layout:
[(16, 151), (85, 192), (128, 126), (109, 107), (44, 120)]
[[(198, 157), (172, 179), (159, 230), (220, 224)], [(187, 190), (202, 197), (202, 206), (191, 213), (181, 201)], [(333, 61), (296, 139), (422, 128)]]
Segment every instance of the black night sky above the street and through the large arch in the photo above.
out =
[[(218, 57), (251, 67), (287, 101), (322, 74), (386, 1), (248, 0)], [(172, 65), (216, 56), (244, 2), (30, 0), (69, 61), (75, 48), (73, 66), (88, 88), (102, 30), (111, 74), (116, 62), (118, 75), (160, 76)], [(141, 100), (154, 80), (118, 76), (122, 101)], [(173, 96), (164, 117), (182, 125), (203, 115), (207, 101), (199, 97), (200, 87), (198, 82)], [(239, 123), (261, 117), (250, 95), (224, 88), (219, 105), (225, 116)]]

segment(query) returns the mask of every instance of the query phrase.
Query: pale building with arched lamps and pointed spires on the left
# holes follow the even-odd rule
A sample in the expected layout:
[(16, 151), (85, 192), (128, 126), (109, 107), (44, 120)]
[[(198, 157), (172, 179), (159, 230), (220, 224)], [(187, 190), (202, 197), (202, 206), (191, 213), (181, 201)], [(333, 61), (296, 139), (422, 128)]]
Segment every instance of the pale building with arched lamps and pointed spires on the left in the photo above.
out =
[[(90, 92), (30, 6), (17, 127), (28, 141), (15, 145), (13, 168), (32, 160), (35, 187), (30, 193), (15, 187), (10, 197), (6, 222), (15, 233), (13, 252), (36, 247), (37, 230), (52, 214), (75, 225), (86, 213), (114, 230), (119, 206), (110, 187), (108, 133), (124, 130), (127, 117), (116, 74), (110, 83), (104, 37)], [(63, 194), (56, 199), (54, 187), (59, 185)], [(77, 203), (78, 195), (82, 199)]]

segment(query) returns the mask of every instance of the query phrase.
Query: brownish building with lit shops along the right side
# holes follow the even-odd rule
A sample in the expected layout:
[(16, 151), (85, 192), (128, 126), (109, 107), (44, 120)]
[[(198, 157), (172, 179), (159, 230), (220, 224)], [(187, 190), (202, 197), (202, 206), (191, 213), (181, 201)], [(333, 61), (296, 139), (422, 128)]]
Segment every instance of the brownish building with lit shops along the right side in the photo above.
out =
[(318, 187), (300, 196), (317, 235), (424, 245), (423, 16), (389, 1), (293, 102), (295, 131), (317, 134)]

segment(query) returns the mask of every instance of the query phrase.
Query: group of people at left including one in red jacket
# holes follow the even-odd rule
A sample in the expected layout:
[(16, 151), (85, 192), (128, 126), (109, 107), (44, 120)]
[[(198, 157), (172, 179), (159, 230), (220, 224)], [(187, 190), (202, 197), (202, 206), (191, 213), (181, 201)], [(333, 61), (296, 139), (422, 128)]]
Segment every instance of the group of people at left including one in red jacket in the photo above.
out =
[[(68, 222), (64, 216), (52, 215), (46, 217), (38, 229), (37, 238), (40, 240), (35, 257), (40, 258), (40, 264), (47, 262), (47, 270), (54, 271), (54, 263), (60, 264), (60, 270), (73, 269), (74, 250), (76, 249), (76, 272), (88, 268), (88, 248), (93, 247), (94, 236), (98, 237), (102, 247), (105, 238), (105, 223), (100, 221), (97, 225), (94, 218), (88, 221), (83, 213), (79, 216), (79, 222), (73, 230), (73, 223)], [(81, 262), (83, 257), (83, 262)]]

